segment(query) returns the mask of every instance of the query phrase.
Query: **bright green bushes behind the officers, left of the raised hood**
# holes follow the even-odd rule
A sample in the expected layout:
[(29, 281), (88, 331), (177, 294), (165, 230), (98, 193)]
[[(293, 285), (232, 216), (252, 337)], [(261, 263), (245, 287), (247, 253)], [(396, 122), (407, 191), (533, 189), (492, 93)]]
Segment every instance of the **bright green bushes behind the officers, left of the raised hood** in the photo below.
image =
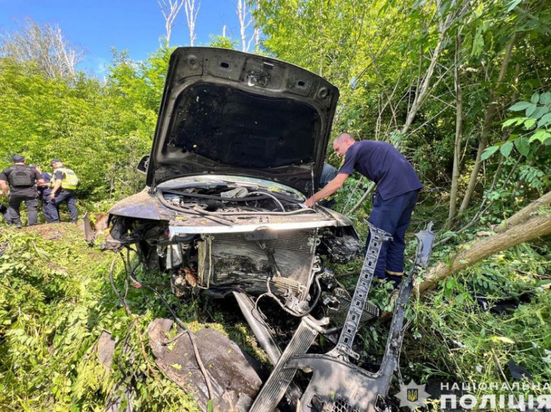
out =
[(90, 206), (139, 191), (135, 167), (151, 147), (170, 52), (145, 63), (115, 52), (106, 83), (83, 73), (75, 82), (50, 79), (32, 63), (0, 58), (0, 166), (13, 153), (44, 171), (61, 158), (81, 178), (78, 194)]

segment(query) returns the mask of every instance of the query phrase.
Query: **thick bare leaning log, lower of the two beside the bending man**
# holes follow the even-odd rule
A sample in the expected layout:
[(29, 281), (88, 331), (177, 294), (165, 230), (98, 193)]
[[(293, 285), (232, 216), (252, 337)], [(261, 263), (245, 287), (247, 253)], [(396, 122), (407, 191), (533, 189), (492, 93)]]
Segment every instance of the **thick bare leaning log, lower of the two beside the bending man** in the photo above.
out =
[(446, 279), (450, 274), (468, 268), (494, 253), (501, 252), (501, 250), (507, 250), (525, 241), (550, 233), (551, 214), (534, 216), (503, 233), (473, 243), (469, 248), (457, 253), (449, 265), (438, 263), (428, 270), (422, 283), (419, 283), (415, 289), (418, 294), (423, 294), (427, 290), (435, 288), (439, 281)]

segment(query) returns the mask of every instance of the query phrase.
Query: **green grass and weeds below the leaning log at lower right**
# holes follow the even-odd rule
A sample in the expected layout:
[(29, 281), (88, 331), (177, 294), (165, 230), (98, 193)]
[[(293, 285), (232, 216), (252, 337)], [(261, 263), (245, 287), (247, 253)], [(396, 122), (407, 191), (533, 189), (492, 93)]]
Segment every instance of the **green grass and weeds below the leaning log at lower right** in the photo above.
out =
[[(551, 294), (541, 287), (540, 273), (549, 272), (548, 258), (548, 248), (520, 245), (446, 279), (439, 292), (415, 305), (410, 336), (420, 341), (415, 345), (415, 339), (408, 339), (406, 362), (425, 381), (450, 376), (462, 382), (500, 382), (497, 367), (507, 370), (513, 360), (534, 382), (547, 382), (551, 363), (545, 349), (551, 329), (545, 319)], [(520, 303), (516, 310), (496, 314), (477, 302), (482, 297), (490, 307), (506, 297)], [(422, 358), (432, 361), (422, 366)]]

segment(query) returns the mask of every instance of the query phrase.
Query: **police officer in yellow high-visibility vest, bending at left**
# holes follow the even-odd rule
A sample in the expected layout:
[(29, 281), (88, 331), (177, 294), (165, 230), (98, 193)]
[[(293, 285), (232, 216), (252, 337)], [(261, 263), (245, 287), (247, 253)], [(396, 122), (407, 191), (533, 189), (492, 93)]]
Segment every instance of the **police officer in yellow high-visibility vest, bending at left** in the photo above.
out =
[(79, 177), (76, 173), (63, 166), (63, 163), (59, 159), (52, 160), (52, 167), (54, 168), (54, 175), (52, 180), (54, 182), (52, 187), (52, 193), (50, 194), (50, 202), (48, 203), (48, 210), (52, 217), (53, 223), (59, 223), (59, 205), (65, 202), (67, 209), (69, 209), (69, 215), (71, 223), (76, 223), (79, 219), (78, 212), (76, 210), (76, 186), (79, 185)]

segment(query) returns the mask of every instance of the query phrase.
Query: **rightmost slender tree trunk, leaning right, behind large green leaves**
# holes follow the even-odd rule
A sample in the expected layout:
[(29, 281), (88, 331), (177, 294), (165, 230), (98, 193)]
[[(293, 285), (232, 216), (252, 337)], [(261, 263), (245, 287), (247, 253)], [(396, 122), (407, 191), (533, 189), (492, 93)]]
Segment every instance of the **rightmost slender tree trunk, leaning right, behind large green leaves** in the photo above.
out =
[(484, 116), (484, 126), (482, 127), (482, 131), (480, 133), (477, 158), (475, 160), (475, 166), (472, 167), (472, 172), (470, 173), (467, 190), (465, 192), (463, 202), (461, 203), (461, 207), (459, 208), (459, 215), (464, 213), (466, 208), (468, 208), (472, 194), (475, 193), (477, 176), (482, 166), (482, 153), (484, 152), (484, 150), (486, 150), (486, 147), (488, 147), (488, 135), (490, 135), (490, 131), (492, 131), (492, 124), (494, 122), (495, 113), (497, 112), (497, 87), (501, 85), (501, 83), (503, 82), (503, 78), (505, 78), (505, 74), (507, 72), (507, 67), (509, 65), (509, 60), (511, 57), (512, 47), (514, 45), (516, 37), (516, 34), (513, 34), (509, 41), (509, 44), (507, 45), (505, 56), (503, 56), (503, 62), (501, 62), (501, 70), (499, 71), (497, 83), (495, 84), (495, 88), (490, 91), (490, 103), (488, 104), (488, 109), (486, 109), (486, 116)]

